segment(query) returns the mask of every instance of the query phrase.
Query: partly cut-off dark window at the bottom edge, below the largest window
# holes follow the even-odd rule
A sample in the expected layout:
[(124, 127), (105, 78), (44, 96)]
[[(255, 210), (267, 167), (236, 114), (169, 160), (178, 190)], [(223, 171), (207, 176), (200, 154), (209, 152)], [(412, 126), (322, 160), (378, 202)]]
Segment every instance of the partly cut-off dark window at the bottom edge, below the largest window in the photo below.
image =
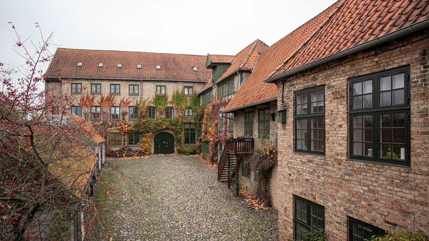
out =
[(385, 233), (383, 229), (349, 217), (349, 241), (371, 240), (373, 235), (381, 237)]

